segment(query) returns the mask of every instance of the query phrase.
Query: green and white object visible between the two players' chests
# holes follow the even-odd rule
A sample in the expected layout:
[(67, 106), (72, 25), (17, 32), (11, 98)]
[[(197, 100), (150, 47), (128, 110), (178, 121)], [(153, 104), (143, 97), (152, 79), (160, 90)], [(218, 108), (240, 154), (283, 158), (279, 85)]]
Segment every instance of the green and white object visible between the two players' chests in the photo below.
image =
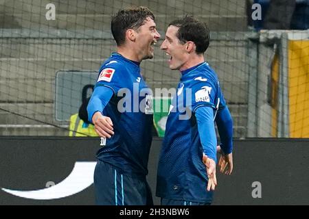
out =
[(153, 123), (159, 137), (164, 137), (171, 99), (168, 97), (153, 99)]

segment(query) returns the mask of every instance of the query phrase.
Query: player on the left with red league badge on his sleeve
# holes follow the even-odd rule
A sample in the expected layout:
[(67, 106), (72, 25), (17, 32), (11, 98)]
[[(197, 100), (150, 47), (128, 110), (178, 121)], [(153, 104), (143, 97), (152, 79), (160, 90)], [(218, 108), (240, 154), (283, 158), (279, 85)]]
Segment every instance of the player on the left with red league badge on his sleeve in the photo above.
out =
[(119, 10), (112, 17), (111, 31), (117, 53), (102, 64), (87, 107), (89, 121), (106, 139), (97, 153), (95, 201), (98, 205), (152, 205), (146, 181), (152, 114), (145, 101), (152, 92), (145, 92), (139, 64), (153, 57), (160, 34), (155, 16), (146, 7)]

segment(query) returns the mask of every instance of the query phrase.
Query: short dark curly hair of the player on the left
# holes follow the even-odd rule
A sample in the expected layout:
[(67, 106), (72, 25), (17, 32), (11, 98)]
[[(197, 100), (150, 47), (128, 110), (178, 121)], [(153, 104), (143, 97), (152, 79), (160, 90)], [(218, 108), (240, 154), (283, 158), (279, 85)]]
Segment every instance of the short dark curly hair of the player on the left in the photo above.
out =
[(128, 29), (138, 29), (150, 17), (155, 21), (154, 14), (144, 6), (119, 10), (111, 18), (111, 31), (117, 46), (124, 43)]

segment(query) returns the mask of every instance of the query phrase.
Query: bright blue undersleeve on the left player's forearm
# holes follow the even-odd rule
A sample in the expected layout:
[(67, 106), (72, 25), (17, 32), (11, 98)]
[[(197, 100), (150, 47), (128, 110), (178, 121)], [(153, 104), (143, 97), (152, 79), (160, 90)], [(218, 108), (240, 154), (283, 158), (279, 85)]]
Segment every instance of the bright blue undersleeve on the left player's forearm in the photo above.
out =
[(95, 112), (103, 113), (104, 108), (106, 107), (107, 103), (111, 100), (113, 96), (113, 90), (106, 86), (97, 86), (95, 90), (93, 90), (93, 94), (91, 95), (91, 99), (87, 106), (88, 112), (88, 120), (91, 124), (92, 123), (92, 116)]

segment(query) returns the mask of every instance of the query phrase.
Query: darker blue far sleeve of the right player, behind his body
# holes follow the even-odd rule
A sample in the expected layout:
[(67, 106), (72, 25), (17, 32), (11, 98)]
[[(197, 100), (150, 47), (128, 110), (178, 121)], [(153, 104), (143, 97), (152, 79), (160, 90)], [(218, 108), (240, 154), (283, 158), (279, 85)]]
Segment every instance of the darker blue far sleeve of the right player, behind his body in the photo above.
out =
[(221, 141), (220, 147), (227, 155), (233, 151), (233, 120), (227, 106), (217, 112), (216, 124)]

